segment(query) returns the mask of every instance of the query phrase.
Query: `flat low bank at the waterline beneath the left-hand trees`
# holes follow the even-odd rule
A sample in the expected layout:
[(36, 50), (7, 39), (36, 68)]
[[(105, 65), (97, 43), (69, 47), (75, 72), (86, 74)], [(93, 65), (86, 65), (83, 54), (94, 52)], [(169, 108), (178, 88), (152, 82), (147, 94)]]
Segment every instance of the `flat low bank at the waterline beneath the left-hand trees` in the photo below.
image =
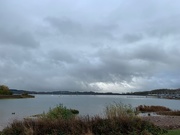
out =
[(0, 95), (0, 99), (35, 98), (33, 95)]

